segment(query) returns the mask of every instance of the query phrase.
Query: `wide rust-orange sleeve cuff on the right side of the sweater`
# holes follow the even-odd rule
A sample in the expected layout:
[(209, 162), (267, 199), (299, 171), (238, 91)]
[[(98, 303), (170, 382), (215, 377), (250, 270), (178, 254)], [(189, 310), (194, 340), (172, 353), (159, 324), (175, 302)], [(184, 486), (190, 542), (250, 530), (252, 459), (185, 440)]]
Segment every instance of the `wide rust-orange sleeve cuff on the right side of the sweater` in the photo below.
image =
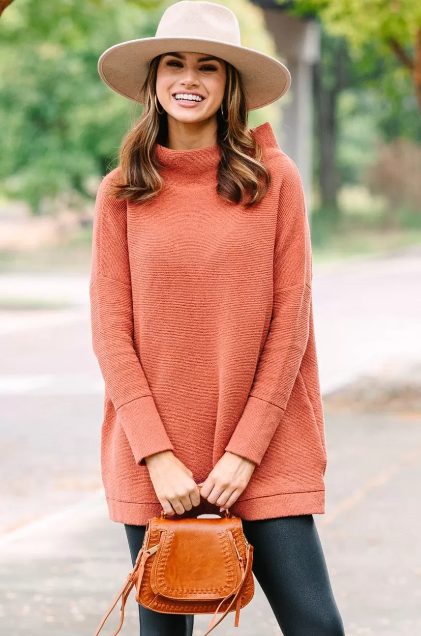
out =
[(284, 409), (259, 397), (249, 396), (225, 450), (260, 464)]

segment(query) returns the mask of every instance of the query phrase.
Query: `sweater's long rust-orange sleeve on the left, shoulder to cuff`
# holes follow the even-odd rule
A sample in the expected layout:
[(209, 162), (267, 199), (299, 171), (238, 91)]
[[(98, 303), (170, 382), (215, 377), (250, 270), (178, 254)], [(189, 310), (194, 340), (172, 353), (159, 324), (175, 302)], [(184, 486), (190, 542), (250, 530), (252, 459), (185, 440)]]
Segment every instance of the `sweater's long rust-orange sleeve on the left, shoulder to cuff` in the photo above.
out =
[(134, 349), (127, 247), (127, 205), (108, 193), (116, 170), (100, 183), (95, 201), (90, 275), (93, 352), (135, 462), (174, 450)]

